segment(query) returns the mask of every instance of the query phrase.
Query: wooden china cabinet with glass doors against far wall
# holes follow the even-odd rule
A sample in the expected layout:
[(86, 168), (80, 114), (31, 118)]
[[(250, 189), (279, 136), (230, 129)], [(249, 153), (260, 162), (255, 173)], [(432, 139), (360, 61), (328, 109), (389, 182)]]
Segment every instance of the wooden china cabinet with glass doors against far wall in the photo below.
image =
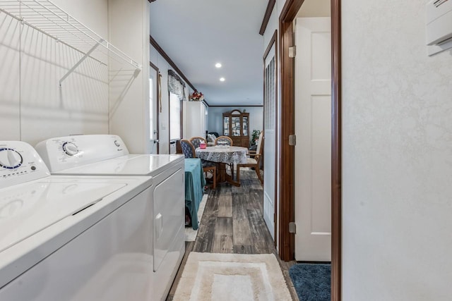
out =
[(232, 110), (223, 113), (223, 135), (232, 139), (236, 147), (249, 147), (249, 113)]

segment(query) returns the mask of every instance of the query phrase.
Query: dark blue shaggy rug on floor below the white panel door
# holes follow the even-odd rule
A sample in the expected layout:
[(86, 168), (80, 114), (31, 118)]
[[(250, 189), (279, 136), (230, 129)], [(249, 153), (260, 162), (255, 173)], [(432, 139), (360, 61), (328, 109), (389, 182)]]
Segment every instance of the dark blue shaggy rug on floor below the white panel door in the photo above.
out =
[(289, 275), (300, 301), (331, 300), (331, 264), (294, 264)]

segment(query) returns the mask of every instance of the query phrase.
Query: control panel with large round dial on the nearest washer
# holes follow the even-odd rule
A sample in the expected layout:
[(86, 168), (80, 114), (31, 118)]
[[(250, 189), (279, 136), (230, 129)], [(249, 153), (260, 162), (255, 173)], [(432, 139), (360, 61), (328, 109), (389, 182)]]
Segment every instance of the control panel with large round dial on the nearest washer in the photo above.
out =
[(50, 176), (35, 149), (21, 141), (0, 141), (0, 189)]

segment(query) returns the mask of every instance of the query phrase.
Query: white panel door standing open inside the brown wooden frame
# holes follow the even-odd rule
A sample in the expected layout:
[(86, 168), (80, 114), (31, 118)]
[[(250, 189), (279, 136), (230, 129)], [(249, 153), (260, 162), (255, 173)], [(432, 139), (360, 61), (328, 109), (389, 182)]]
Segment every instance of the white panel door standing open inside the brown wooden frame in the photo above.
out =
[(297, 18), (295, 259), (331, 261), (331, 19)]

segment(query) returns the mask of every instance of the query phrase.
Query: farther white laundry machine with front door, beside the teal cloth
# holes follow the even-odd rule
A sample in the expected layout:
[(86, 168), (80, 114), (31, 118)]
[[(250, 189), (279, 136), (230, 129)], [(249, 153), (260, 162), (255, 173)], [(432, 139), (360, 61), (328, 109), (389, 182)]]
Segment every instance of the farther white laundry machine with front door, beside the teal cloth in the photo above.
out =
[(185, 252), (184, 156), (129, 154), (117, 135), (57, 137), (35, 148), (52, 175), (152, 176), (153, 300), (165, 300)]

